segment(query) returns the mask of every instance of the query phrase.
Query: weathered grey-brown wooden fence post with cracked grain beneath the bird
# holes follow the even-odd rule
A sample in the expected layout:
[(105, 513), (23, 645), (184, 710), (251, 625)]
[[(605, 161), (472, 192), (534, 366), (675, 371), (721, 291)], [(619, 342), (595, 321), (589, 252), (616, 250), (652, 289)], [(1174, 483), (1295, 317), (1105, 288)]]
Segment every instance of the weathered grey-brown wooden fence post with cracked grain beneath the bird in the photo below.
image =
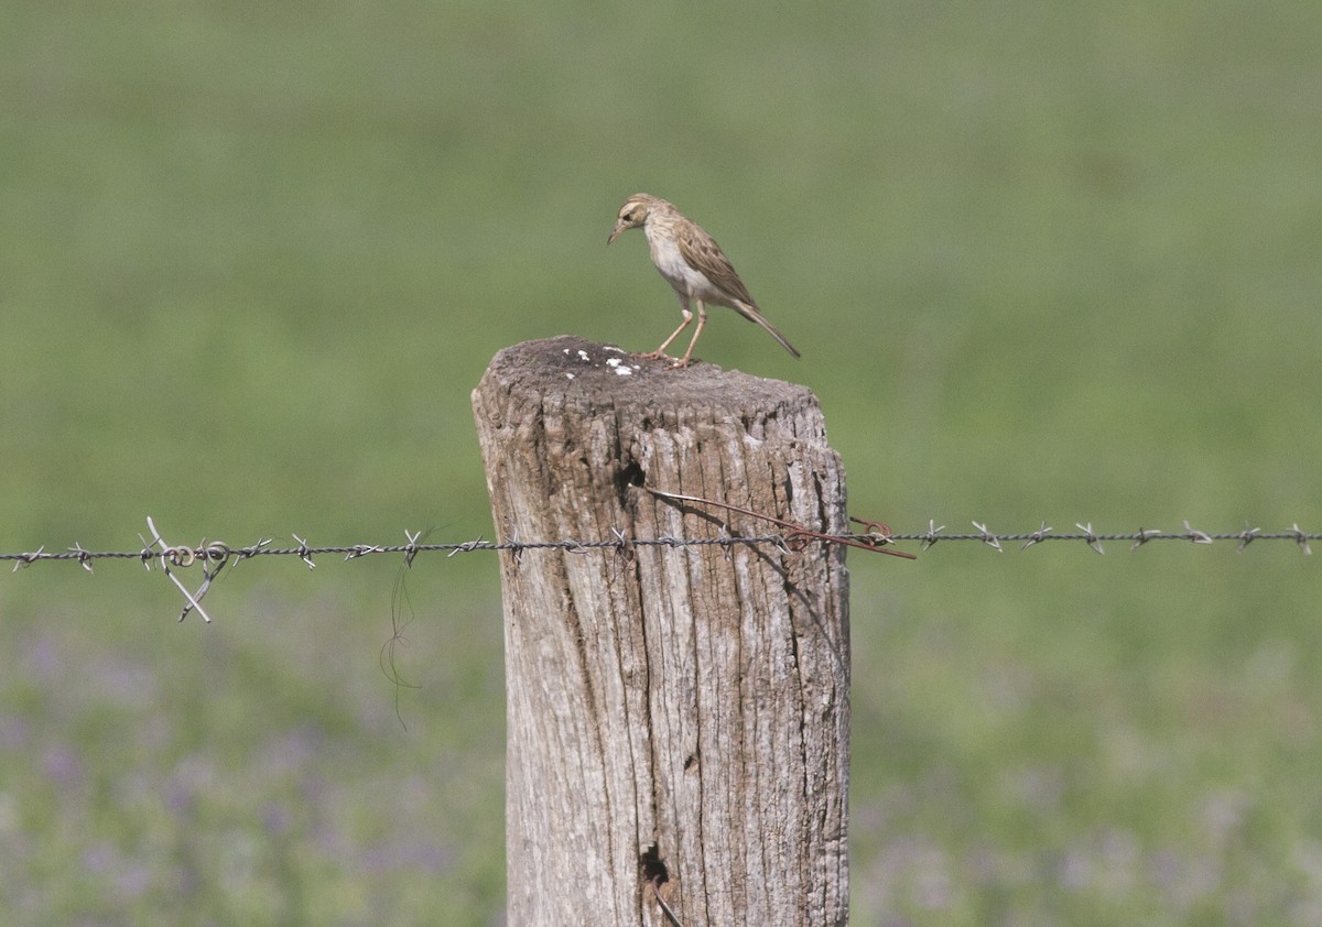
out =
[[(846, 530), (804, 387), (566, 337), (473, 412), (502, 541), (779, 532), (644, 486)], [(817, 541), (501, 553), (510, 924), (674, 924), (652, 883), (683, 927), (846, 923), (847, 582)]]

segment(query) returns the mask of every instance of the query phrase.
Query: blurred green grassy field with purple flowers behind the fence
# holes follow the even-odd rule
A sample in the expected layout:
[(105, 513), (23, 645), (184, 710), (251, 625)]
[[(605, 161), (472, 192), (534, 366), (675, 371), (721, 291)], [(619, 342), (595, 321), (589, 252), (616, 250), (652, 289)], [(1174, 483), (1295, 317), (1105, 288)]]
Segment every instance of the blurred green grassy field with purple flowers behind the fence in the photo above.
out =
[[(0, 549), (490, 536), (490, 355), (726, 246), (851, 508), (1322, 524), (1322, 7), (62, 3), (0, 30)], [(723, 314), (722, 314), (723, 313)], [(0, 576), (13, 924), (501, 923), (493, 557)], [(1322, 920), (1322, 563), (851, 557), (861, 924)], [(407, 728), (401, 726), (399, 717)], [(590, 919), (590, 918), (588, 918)]]

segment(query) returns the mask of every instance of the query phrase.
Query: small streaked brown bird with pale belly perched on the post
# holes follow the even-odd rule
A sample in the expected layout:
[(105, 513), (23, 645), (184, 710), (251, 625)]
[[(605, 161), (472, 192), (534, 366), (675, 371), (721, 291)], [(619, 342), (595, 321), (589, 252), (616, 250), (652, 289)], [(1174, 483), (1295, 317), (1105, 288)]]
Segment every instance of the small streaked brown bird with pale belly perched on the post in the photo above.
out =
[[(785, 335), (761, 316), (758, 304), (748, 294), (748, 288), (735, 273), (717, 240), (709, 235), (702, 226), (677, 210), (673, 203), (653, 197), (648, 193), (635, 193), (620, 206), (615, 221), (615, 230), (605, 239), (609, 244), (621, 232), (629, 228), (642, 228), (648, 236), (648, 251), (657, 271), (674, 288), (680, 297), (683, 321), (670, 337), (661, 342), (661, 347), (640, 354), (644, 358), (665, 358), (673, 360), (676, 367), (687, 367), (689, 358), (693, 357), (693, 346), (698, 343), (702, 326), (707, 324), (707, 305), (726, 306), (756, 322), (771, 333), (771, 337), (793, 354), (801, 357), (798, 350), (789, 343)], [(689, 350), (682, 358), (672, 358), (665, 353), (670, 342), (680, 337), (680, 333), (689, 327), (693, 321), (693, 304), (698, 304), (698, 329), (693, 333)]]

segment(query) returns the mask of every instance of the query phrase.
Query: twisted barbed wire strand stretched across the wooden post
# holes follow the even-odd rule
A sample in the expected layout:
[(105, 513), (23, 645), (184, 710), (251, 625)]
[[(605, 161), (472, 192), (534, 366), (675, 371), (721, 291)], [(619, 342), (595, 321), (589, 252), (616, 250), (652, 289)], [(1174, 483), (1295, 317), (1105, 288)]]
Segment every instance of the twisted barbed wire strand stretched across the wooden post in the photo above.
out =
[[(625, 556), (632, 556), (633, 551), (640, 547), (685, 548), (713, 545), (726, 548), (736, 545), (771, 545), (788, 552), (791, 549), (801, 549), (813, 541), (842, 544), (846, 547), (862, 548), (876, 553), (887, 553), (907, 559), (914, 559), (915, 555), (907, 551), (894, 549), (895, 544), (917, 543), (921, 545), (923, 551), (927, 551), (937, 543), (977, 541), (999, 553), (1003, 553), (1003, 544), (1019, 544), (1021, 549), (1027, 549), (1036, 544), (1044, 544), (1048, 541), (1084, 541), (1097, 553), (1105, 553), (1103, 544), (1109, 541), (1129, 543), (1130, 551), (1137, 551), (1140, 547), (1154, 541), (1185, 541), (1204, 545), (1219, 541), (1233, 541), (1239, 551), (1244, 551), (1244, 548), (1249, 544), (1259, 541), (1293, 541), (1301, 553), (1311, 555), (1313, 549), (1310, 543), (1322, 540), (1322, 532), (1303, 531), (1300, 528), (1297, 522), (1286, 531), (1264, 531), (1261, 528), (1245, 526), (1243, 531), (1210, 532), (1199, 531), (1191, 527), (1187, 520), (1183, 523), (1183, 531), (1174, 532), (1158, 531), (1154, 528), (1138, 528), (1137, 531), (1126, 532), (1103, 532), (1095, 531), (1091, 522), (1076, 523), (1075, 528), (1077, 531), (1073, 532), (1056, 532), (1054, 528), (1047, 526), (1046, 522), (1042, 522), (1035, 531), (994, 532), (981, 522), (972, 522), (972, 526), (977, 528), (977, 531), (964, 533), (945, 533), (944, 524), (937, 526), (935, 520), (929, 520), (927, 531), (904, 533), (892, 532), (880, 522), (850, 518), (851, 523), (863, 526), (865, 530), (861, 532), (833, 535), (813, 531), (792, 522), (769, 515), (761, 515), (751, 510), (713, 502), (710, 499), (702, 499), (699, 497), (660, 493), (657, 490), (652, 491), (656, 495), (683, 503), (703, 503), (718, 506), (730, 511), (743, 512), (746, 515), (771, 522), (783, 528), (783, 531), (764, 535), (738, 535), (728, 533), (730, 526), (724, 524), (723, 528), (726, 533), (715, 537), (674, 537), (669, 535), (662, 535), (660, 537), (629, 537), (619, 528), (612, 528), (611, 537), (584, 540), (549, 539), (525, 541), (516, 537), (505, 541), (489, 541), (479, 535), (473, 540), (467, 541), (424, 543), (422, 540), (424, 532), (408, 531), (406, 528), (405, 539), (407, 543), (405, 544), (329, 544), (317, 547), (309, 544), (307, 539), (295, 533), (292, 537), (297, 541), (297, 547), (274, 547), (274, 537), (260, 537), (255, 544), (250, 544), (247, 547), (231, 547), (230, 544), (218, 540), (202, 540), (196, 545), (169, 544), (156, 530), (155, 522), (148, 518), (147, 527), (151, 532), (151, 540), (139, 535), (137, 537), (141, 541), (141, 547), (134, 551), (89, 551), (82, 544), (74, 543), (73, 547), (63, 551), (46, 551), (45, 545), (42, 545), (32, 552), (0, 553), (0, 561), (12, 561), (12, 572), (17, 572), (19, 569), (42, 561), (73, 561), (89, 573), (93, 572), (93, 564), (97, 560), (136, 560), (148, 570), (151, 570), (153, 565), (159, 565), (165, 576), (184, 594), (185, 606), (180, 613), (178, 621), (184, 621), (190, 611), (196, 610), (204, 621), (210, 622), (212, 618), (202, 609), (201, 602), (206, 596), (206, 592), (210, 589), (212, 581), (215, 580), (221, 570), (230, 564), (237, 565), (254, 557), (271, 556), (296, 556), (307, 564), (309, 569), (316, 569), (317, 564), (313, 557), (323, 555), (342, 555), (348, 561), (371, 555), (402, 553), (405, 555), (405, 566), (412, 566), (414, 559), (419, 553), (446, 553), (447, 557), (453, 557), (459, 553), (473, 553), (477, 551), (508, 551), (516, 559), (521, 559), (527, 551), (554, 549), (564, 551), (567, 553), (613, 551)], [(189, 592), (188, 586), (185, 586), (178, 576), (175, 574), (175, 570), (188, 569), (190, 566), (200, 566), (202, 570), (202, 582), (193, 592)]]

